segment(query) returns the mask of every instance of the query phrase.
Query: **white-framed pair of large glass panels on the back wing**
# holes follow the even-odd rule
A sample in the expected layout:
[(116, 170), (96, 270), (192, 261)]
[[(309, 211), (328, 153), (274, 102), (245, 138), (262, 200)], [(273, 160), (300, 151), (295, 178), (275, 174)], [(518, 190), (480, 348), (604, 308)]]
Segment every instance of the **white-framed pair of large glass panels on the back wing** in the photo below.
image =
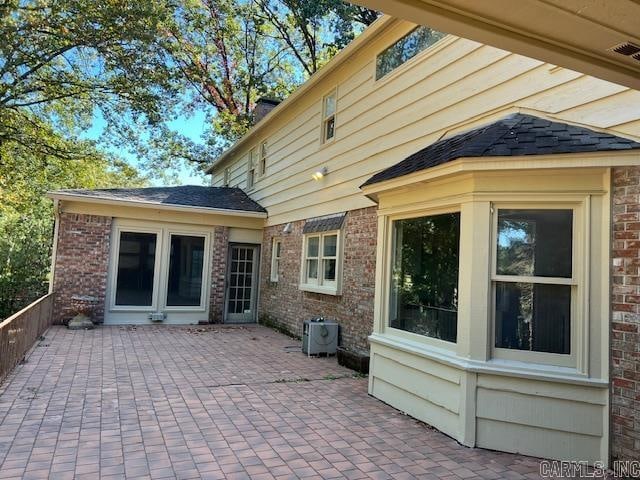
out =
[(105, 323), (208, 321), (210, 239), (198, 227), (116, 221)]

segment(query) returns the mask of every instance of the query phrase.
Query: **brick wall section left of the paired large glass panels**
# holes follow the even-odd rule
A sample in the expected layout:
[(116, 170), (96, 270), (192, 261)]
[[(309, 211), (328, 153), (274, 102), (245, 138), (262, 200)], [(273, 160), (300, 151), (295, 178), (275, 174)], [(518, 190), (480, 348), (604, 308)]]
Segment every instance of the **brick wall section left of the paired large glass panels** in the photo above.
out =
[(98, 299), (94, 321), (104, 318), (107, 288), (111, 217), (60, 214), (53, 289), (56, 293), (54, 322), (66, 322), (73, 316), (73, 295), (91, 295)]

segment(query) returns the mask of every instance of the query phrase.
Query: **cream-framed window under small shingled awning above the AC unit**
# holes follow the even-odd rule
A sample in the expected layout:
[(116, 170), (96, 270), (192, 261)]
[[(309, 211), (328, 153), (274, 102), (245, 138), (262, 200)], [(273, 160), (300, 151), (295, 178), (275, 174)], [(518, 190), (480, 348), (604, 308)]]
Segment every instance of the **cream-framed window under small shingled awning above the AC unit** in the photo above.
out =
[(300, 289), (337, 295), (339, 256), (339, 231), (305, 235)]

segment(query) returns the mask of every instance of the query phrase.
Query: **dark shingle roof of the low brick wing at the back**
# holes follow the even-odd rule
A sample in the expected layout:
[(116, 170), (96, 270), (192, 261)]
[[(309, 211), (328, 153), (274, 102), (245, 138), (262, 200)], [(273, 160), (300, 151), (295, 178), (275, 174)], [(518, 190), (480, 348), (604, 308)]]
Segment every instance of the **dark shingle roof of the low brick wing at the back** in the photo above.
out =
[(216, 208), (266, 213), (257, 202), (239, 188), (204, 187), (185, 185), (181, 187), (149, 188), (104, 188), (96, 190), (58, 190), (55, 193), (77, 195), (105, 200), (146, 202), (159, 205)]

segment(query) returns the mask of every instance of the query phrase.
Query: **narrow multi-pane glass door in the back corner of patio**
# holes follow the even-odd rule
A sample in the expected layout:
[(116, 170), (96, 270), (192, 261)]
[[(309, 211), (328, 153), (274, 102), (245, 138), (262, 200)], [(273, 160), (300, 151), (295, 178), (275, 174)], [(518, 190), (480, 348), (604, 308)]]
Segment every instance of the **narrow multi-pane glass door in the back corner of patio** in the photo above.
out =
[(256, 321), (259, 247), (229, 246), (225, 323)]

